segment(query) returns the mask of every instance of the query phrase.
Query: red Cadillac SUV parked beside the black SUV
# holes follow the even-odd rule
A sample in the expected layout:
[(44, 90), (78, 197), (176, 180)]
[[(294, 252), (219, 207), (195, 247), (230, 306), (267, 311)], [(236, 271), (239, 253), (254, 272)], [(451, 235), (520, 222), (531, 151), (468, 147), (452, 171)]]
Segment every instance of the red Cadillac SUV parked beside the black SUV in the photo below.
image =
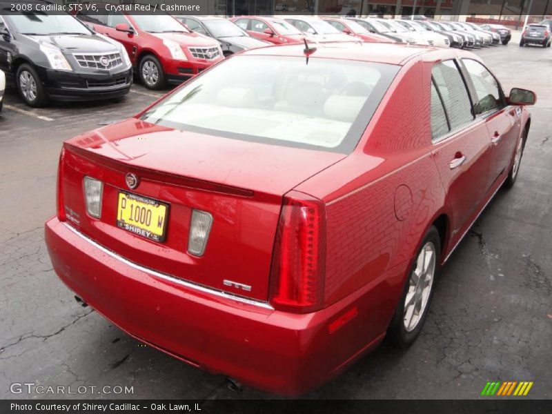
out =
[(224, 59), (215, 39), (188, 30), (169, 14), (103, 11), (77, 17), (96, 32), (124, 44), (146, 88), (181, 83)]

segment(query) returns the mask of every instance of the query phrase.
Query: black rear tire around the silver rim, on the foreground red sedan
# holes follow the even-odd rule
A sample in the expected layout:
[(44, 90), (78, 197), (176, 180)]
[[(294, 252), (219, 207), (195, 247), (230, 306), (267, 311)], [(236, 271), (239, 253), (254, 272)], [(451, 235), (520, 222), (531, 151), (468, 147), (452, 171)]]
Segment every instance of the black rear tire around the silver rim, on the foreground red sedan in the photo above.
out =
[[(413, 327), (411, 331), (408, 331), (405, 327), (405, 322), (404, 322), (405, 321), (404, 308), (405, 308), (406, 295), (408, 295), (408, 292), (409, 290), (411, 290), (411, 287), (412, 287), (411, 278), (413, 277), (414, 270), (416, 270), (417, 268), (418, 257), (422, 253), (422, 249), (426, 248), (428, 244), (432, 244), (433, 248), (435, 249), (434, 250), (435, 266), (433, 270), (433, 279), (428, 293), (428, 298), (427, 298), (426, 304), (424, 305), (422, 313), (418, 317), (415, 327)], [(422, 331), (424, 322), (426, 320), (426, 317), (429, 311), (429, 306), (431, 305), (431, 298), (433, 297), (433, 291), (435, 290), (435, 283), (439, 278), (440, 262), (441, 262), (441, 239), (439, 236), (439, 232), (437, 231), (437, 228), (435, 228), (435, 226), (431, 226), (427, 231), (426, 235), (424, 236), (424, 239), (422, 239), (422, 244), (420, 245), (420, 249), (418, 250), (417, 255), (413, 259), (413, 263), (408, 270), (408, 275), (406, 275), (406, 280), (404, 282), (404, 289), (403, 289), (400, 302), (399, 304), (397, 304), (395, 315), (393, 315), (393, 320), (391, 321), (391, 324), (389, 325), (389, 328), (387, 331), (387, 337), (393, 345), (399, 348), (407, 348), (408, 346), (411, 346), (411, 344), (413, 344), (417, 336), (420, 335), (420, 332)], [(417, 292), (417, 287), (414, 288), (414, 291)]]

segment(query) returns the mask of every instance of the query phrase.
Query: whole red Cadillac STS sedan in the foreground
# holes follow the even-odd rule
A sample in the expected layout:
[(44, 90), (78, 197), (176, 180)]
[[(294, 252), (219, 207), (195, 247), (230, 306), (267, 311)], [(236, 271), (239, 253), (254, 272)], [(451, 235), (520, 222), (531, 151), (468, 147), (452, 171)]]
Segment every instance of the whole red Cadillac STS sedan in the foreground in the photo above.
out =
[(515, 183), (535, 99), (462, 50), (234, 55), (63, 144), (53, 267), (139, 341), (304, 393), (415, 340), (440, 267)]

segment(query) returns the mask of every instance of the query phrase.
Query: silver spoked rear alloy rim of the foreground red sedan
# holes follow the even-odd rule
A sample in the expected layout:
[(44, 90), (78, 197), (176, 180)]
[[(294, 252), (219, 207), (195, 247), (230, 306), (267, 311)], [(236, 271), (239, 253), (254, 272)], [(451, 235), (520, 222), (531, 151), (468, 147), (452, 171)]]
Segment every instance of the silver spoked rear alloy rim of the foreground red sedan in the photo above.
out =
[(403, 323), (407, 332), (416, 328), (426, 310), (431, 288), (433, 288), (436, 256), (435, 244), (427, 242), (417, 257), (416, 267), (411, 273), (408, 292), (404, 299)]

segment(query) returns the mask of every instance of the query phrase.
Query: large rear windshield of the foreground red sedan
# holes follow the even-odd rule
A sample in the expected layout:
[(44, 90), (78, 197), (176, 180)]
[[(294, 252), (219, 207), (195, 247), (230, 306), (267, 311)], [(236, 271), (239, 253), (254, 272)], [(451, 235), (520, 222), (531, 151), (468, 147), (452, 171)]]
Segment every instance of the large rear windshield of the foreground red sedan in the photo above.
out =
[(399, 66), (235, 56), (188, 81), (142, 119), (244, 141), (349, 153)]

